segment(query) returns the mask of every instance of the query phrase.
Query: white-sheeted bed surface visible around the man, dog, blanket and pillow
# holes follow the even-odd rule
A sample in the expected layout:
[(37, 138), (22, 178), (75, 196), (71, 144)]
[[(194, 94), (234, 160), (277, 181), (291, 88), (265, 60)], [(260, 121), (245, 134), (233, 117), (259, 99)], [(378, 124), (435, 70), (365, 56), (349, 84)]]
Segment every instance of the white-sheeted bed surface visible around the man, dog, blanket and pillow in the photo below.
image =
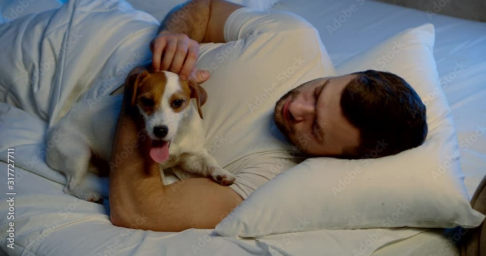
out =
[[(16, 11), (18, 16), (58, 6), (55, 1), (26, 2), (22, 12)], [(355, 2), (285, 0), (276, 1), (272, 8), (294, 12), (310, 21), (319, 30), (338, 73), (340, 64), (353, 55), (407, 28), (433, 23), (434, 56), (456, 125), (464, 183), (472, 198), (486, 175), (486, 138), (476, 136), (474, 142), (471, 140), (478, 127), (486, 123), (486, 103), (482, 100), (486, 96), (483, 82), (486, 80), (486, 24), (366, 1), (359, 6), (359, 11), (342, 22), (339, 30), (330, 33), (328, 26), (333, 26), (334, 18)], [(3, 23), (9, 22), (5, 17), (12, 17), (19, 5), (16, 1), (13, 5), (0, 2), (0, 8), (5, 7), (1, 9)], [(464, 68), (455, 72), (457, 65)], [(69, 86), (68, 89), (76, 89), (75, 85)], [(62, 113), (65, 110), (59, 106), (50, 111)], [(13, 146), (16, 161), (27, 167), (16, 170), (16, 249), (8, 248), (2, 235), (0, 245), (5, 255), (227, 255), (228, 252), (235, 255), (356, 255), (353, 250), (374, 232), (372, 229), (301, 232), (287, 243), (286, 234), (233, 239), (221, 237), (214, 230), (189, 229), (174, 233), (119, 228), (109, 221), (107, 205), (82, 202), (62, 192), (64, 177), (50, 170), (41, 158), (44, 148), (39, 145), (44, 142), (47, 122), (6, 104), (2, 105), (0, 116), (2, 127), (7, 127), (1, 131), (1, 168), (7, 168), (5, 152)], [(34, 166), (35, 172), (24, 170)], [(89, 176), (87, 183), (107, 195), (106, 179)], [(4, 200), (6, 195), (2, 196)], [(6, 216), (7, 211), (4, 207), (0, 210), (2, 216)], [(2, 231), (8, 229), (3, 217), (0, 227)], [(459, 255), (455, 230), (390, 228), (384, 232), (382, 239), (360, 255)]]

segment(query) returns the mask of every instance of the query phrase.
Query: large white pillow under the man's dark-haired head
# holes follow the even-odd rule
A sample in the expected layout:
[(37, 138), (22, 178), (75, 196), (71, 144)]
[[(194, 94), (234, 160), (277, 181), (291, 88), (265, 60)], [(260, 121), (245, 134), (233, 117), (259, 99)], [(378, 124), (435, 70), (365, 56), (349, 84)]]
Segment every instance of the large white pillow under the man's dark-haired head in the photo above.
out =
[(390, 71), (414, 87), (427, 106), (429, 133), (423, 145), (378, 159), (308, 159), (258, 188), (216, 231), (259, 237), (319, 229), (480, 225), (485, 216), (469, 205), (433, 47), (434, 27), (425, 24), (338, 67), (340, 74)]

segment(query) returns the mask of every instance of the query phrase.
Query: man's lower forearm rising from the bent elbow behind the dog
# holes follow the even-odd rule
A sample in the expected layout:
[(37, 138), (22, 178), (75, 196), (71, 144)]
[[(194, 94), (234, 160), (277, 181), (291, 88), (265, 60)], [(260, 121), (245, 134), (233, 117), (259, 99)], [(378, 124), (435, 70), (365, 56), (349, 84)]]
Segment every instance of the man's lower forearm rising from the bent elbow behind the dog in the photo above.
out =
[(137, 130), (136, 123), (123, 109), (110, 161), (110, 215), (115, 224), (134, 222), (139, 218), (138, 215), (145, 215), (148, 221), (144, 219), (136, 228), (147, 229), (149, 222), (154, 219), (147, 215), (150, 215), (156, 205), (152, 205), (150, 200), (142, 199), (149, 195), (163, 199), (164, 188), (158, 164), (145, 157), (147, 154), (140, 150), (149, 139)]

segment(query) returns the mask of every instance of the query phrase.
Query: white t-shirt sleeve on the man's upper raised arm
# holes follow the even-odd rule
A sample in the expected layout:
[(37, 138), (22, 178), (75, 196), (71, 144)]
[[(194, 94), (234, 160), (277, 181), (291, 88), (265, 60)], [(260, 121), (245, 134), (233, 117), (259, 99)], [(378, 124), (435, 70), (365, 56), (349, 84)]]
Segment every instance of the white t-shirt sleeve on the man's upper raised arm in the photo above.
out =
[(275, 34), (300, 29), (315, 30), (311, 23), (293, 13), (266, 12), (244, 7), (237, 9), (227, 18), (224, 36), (226, 42), (230, 42), (250, 35)]

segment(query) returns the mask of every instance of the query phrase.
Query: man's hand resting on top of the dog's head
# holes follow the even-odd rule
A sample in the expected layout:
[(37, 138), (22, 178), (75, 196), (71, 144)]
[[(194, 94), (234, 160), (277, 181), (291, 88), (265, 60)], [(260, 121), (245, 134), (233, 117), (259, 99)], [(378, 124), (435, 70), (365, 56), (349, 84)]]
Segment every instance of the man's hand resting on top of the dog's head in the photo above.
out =
[(199, 43), (186, 34), (170, 34), (162, 31), (150, 42), (152, 66), (155, 71), (168, 70), (178, 73), (182, 80), (193, 79), (203, 83), (209, 78), (209, 72), (196, 71), (199, 57)]

